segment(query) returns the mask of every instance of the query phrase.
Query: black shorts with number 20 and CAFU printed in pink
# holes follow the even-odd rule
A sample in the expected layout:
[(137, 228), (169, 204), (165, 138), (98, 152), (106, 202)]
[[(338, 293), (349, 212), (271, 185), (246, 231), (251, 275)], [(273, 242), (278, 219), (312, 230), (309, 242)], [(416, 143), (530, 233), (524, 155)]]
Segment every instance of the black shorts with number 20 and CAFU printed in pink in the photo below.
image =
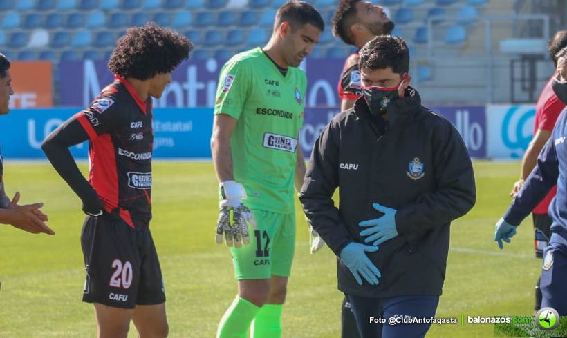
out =
[(115, 308), (165, 302), (158, 253), (149, 228), (118, 217), (87, 216), (81, 233), (86, 280), (83, 301)]

